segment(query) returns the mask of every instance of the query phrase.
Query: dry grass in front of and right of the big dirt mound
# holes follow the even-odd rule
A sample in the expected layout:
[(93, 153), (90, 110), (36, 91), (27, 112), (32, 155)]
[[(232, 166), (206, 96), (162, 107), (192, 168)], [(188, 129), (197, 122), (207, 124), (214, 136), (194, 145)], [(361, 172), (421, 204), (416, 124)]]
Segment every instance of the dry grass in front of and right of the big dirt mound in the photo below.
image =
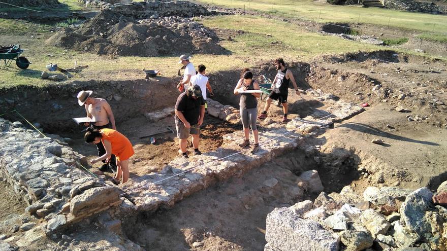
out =
[[(260, 61), (270, 61), (277, 57), (283, 57), (286, 61), (305, 61), (320, 54), (385, 49), (303, 31), (290, 23), (261, 17), (215, 16), (207, 17), (201, 22), (213, 28), (246, 31), (244, 34), (234, 36), (234, 41), (220, 42), (223, 47), (232, 51), (232, 55), (193, 55), (192, 61), (196, 65), (205, 64), (210, 73), (252, 67)], [(11, 29), (15, 25), (20, 28)], [(8, 32), (2, 32), (5, 30)], [(26, 21), (0, 19), (0, 44), (20, 44), (26, 49), (22, 56), (33, 62), (26, 70), (20, 70), (14, 63), (8, 68), (0, 67), (0, 87), (53, 84), (55, 82), (40, 78), (49, 63), (57, 63), (61, 68), (71, 68), (77, 60), (78, 65), (89, 66), (81, 74), (74, 74), (74, 78), (69, 81), (143, 79), (145, 76), (143, 68), (161, 69), (162, 76), (173, 77), (177, 75), (180, 66), (177, 63), (179, 55), (112, 57), (58, 48), (45, 43), (51, 34), (51, 32), (36, 32), (35, 24)]]

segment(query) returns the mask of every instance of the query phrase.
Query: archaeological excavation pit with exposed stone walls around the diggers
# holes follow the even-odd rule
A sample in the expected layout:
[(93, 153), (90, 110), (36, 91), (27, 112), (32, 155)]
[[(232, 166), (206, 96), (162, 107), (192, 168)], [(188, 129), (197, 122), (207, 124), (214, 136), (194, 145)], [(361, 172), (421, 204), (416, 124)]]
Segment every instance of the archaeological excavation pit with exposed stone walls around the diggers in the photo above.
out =
[[(392, 52), (383, 54), (393, 57)], [(380, 58), (380, 52), (372, 53), (370, 58), (365, 55), (325, 60), (348, 64), (353, 57), (364, 57), (361, 60), (377, 63)], [(277, 207), (291, 207), (306, 200), (315, 200), (316, 205), (322, 191), (335, 198), (333, 193), (346, 191), (346, 186), (365, 188), (370, 181), (380, 183), (380, 179), (394, 184), (400, 177), (411, 176), (405, 170), (385, 173), (381, 169), (386, 164), (372, 151), (337, 144), (328, 136), (332, 130), (343, 129), (340, 122), (363, 116), (365, 109), (359, 102), (371, 95), (355, 94), (360, 91), (349, 88), (358, 84), (370, 89), (381, 81), (366, 74), (330, 69), (327, 62), (291, 62), (290, 68), (305, 93), (289, 95), (287, 123), (278, 122), (282, 109), (272, 105), (269, 119), (259, 122), (262, 150), (254, 155), (240, 153), (237, 146), (242, 127), (238, 97), (232, 90), (239, 70), (210, 74), (211, 80), (219, 81), (213, 82), (215, 95), (209, 100), (203, 126), (203, 155), (186, 162), (178, 158), (174, 134), (156, 137), (154, 145), (147, 138), (139, 138), (167, 126), (174, 128), (173, 105), (178, 95), (174, 78), (74, 82), (63, 88), (21, 87), (4, 91), (0, 95), (5, 105), (15, 107), (31, 123), (39, 123), (35, 126), (54, 140), (31, 132), (31, 127), (17, 114), (6, 115), (9, 121), (21, 121), (24, 126), (1, 121), (2, 151), (15, 151), (17, 159), (11, 162), (3, 157), (2, 163), (9, 163), (2, 164), (3, 178), (29, 203), (26, 213), (33, 216), (31, 223), (36, 222), (33, 231), (37, 234), (38, 229), (44, 229), (54, 242), (74, 245), (70, 243), (76, 239), (78, 245), (87, 247), (91, 241), (87, 235), (94, 228), (97, 234), (106, 236), (101, 241), (121, 243), (127, 250), (262, 250), (266, 246), (266, 217)], [(268, 65), (259, 65), (253, 71), (255, 76), (274, 76)], [(328, 83), (331, 87), (323, 88)], [(74, 96), (82, 89), (91, 89), (109, 101), (118, 130), (134, 145), (131, 179), (118, 188), (106, 181), (111, 173), (93, 177), (79, 165), (87, 167), (87, 158), (95, 155), (94, 147), (83, 142), (84, 127), (70, 120), (84, 116)], [(393, 95), (385, 83), (378, 90), (384, 95), (380, 98)], [(354, 98), (346, 98), (349, 95)], [(260, 101), (260, 109), (263, 105)], [(51, 118), (45, 117), (48, 109)], [(334, 123), (339, 124), (334, 128)], [(374, 127), (369, 129), (373, 131)], [(28, 162), (32, 165), (25, 164)], [(439, 185), (442, 177), (438, 180), (433, 180), (436, 184), (432, 187)], [(119, 237), (113, 237), (113, 233)], [(26, 241), (17, 241), (26, 246), (34, 240), (31, 234), (28, 237)]]

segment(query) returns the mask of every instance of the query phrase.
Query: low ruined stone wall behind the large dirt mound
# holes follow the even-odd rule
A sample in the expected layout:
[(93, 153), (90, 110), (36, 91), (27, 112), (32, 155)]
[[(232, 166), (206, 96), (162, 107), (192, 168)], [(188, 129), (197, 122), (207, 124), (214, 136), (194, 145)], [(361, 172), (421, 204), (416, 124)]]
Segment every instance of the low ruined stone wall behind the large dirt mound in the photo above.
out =
[(130, 0), (82, 0), (85, 5), (110, 9), (124, 16), (141, 19), (148, 17), (211, 15), (202, 5), (187, 1), (146, 1), (131, 3)]

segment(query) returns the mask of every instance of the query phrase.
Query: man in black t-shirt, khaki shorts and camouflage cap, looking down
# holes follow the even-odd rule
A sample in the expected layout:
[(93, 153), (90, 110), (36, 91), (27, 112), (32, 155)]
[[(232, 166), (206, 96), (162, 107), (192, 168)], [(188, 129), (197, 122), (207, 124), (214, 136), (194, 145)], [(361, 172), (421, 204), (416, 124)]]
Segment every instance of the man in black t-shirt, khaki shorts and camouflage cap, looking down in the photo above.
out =
[(186, 92), (178, 96), (175, 103), (175, 128), (179, 138), (179, 153), (184, 158), (188, 158), (186, 144), (189, 134), (193, 136), (194, 155), (202, 154), (199, 151), (199, 127), (203, 124), (204, 116), (205, 100), (200, 86), (190, 86)]

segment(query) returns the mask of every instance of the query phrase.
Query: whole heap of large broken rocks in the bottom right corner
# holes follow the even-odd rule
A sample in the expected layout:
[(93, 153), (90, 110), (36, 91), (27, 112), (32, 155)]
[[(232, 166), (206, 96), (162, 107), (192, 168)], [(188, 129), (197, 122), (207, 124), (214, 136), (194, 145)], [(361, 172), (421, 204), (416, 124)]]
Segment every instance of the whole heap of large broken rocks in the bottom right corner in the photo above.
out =
[(444, 250), (446, 187), (437, 195), (427, 188), (368, 187), (361, 197), (346, 186), (314, 202), (275, 208), (267, 216), (264, 250)]

